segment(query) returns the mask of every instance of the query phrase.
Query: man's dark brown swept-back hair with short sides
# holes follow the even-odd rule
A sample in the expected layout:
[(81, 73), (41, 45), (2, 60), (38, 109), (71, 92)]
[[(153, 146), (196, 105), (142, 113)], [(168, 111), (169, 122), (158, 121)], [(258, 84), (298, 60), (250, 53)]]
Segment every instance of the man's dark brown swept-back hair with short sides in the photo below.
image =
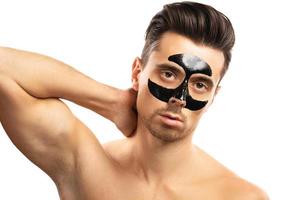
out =
[(221, 78), (228, 69), (235, 35), (230, 20), (209, 5), (184, 1), (164, 5), (151, 20), (145, 35), (142, 63), (145, 66), (152, 51), (157, 50), (161, 36), (167, 32), (183, 35), (197, 44), (221, 50), (225, 63)]

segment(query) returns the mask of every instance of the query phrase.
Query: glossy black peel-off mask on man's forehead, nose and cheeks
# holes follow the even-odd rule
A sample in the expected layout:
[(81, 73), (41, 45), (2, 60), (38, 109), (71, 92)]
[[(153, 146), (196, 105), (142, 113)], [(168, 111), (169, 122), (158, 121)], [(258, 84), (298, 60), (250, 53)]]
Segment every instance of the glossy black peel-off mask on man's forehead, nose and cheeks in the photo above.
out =
[[(148, 79), (148, 88), (151, 94), (157, 99), (169, 102), (171, 97), (175, 97), (186, 102), (185, 108), (196, 111), (202, 109), (208, 102), (205, 95), (199, 92), (189, 91), (189, 85), (193, 85), (194, 77), (212, 76), (210, 66), (199, 57), (189, 54), (175, 54), (168, 57), (168, 60), (182, 67), (184, 76), (180, 79), (178, 87), (165, 87), (166, 84), (159, 85), (155, 81)], [(182, 80), (182, 81), (181, 81)], [(160, 83), (162, 84), (162, 83)], [(204, 99), (203, 99), (204, 98)]]

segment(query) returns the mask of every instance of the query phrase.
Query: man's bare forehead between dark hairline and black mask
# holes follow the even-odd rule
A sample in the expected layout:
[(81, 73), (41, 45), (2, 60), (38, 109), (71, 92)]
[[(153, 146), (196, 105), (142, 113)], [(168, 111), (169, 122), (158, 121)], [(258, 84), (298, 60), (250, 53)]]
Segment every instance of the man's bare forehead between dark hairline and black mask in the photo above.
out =
[[(168, 57), (174, 54), (190, 54), (205, 61), (212, 70), (212, 79), (216, 82), (220, 78), (220, 73), (224, 65), (222, 51), (207, 46), (195, 44), (190, 39), (177, 33), (166, 32), (160, 39), (158, 49), (153, 51), (149, 57), (149, 64), (154, 66), (158, 63), (172, 63)], [(172, 63), (174, 64), (174, 63)]]

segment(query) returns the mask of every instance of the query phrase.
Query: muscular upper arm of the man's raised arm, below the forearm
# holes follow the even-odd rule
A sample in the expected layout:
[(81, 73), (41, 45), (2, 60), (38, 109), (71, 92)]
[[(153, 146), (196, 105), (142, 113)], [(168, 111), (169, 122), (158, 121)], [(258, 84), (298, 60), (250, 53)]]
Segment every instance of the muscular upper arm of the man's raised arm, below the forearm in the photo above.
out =
[(72, 167), (78, 121), (59, 99), (37, 99), (0, 75), (0, 121), (15, 146), (51, 178)]

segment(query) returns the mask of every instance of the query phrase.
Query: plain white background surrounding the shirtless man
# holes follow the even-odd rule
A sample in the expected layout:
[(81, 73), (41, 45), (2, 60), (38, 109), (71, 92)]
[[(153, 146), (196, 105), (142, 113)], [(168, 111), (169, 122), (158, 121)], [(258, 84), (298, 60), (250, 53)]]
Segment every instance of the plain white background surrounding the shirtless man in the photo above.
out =
[[(100, 82), (127, 88), (144, 31), (169, 2), (1, 0), (0, 45), (52, 56)], [(300, 199), (300, 7), (292, 0), (202, 2), (231, 19), (236, 45), (223, 89), (194, 143), (272, 200)], [(67, 103), (101, 142), (123, 137), (107, 120)], [(0, 199), (58, 198), (50, 178), (1, 128)]]

